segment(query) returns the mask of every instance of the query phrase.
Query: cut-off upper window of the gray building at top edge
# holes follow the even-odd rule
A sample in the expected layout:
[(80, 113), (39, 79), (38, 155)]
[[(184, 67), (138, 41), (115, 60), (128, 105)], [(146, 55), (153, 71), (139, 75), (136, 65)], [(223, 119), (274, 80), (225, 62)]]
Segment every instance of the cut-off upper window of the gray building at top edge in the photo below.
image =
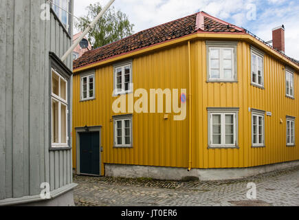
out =
[(60, 21), (69, 28), (69, 0), (53, 0), (52, 8)]

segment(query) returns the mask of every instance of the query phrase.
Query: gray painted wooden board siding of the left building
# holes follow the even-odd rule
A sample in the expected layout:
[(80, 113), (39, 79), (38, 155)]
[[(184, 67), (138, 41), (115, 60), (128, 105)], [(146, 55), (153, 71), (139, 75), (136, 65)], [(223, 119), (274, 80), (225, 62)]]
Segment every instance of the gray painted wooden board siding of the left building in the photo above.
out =
[[(72, 181), (71, 149), (49, 151), (49, 52), (63, 56), (72, 33), (53, 12), (41, 19), (45, 2), (0, 0), (0, 203)], [(71, 56), (65, 65), (72, 69)]]

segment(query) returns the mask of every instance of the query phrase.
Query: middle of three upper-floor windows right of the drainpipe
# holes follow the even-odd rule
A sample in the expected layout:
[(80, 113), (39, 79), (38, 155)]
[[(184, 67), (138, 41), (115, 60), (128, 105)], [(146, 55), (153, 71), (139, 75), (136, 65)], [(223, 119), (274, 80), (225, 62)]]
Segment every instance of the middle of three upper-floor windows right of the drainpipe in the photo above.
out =
[(260, 52), (252, 49), (251, 52), (252, 85), (264, 87), (264, 57)]

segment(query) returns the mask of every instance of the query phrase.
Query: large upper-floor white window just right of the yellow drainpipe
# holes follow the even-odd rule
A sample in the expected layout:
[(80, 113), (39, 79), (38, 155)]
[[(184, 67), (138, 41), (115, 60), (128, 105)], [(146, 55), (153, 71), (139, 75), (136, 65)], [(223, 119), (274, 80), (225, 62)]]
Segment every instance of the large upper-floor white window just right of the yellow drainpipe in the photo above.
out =
[(236, 42), (206, 41), (208, 81), (237, 80), (236, 45)]

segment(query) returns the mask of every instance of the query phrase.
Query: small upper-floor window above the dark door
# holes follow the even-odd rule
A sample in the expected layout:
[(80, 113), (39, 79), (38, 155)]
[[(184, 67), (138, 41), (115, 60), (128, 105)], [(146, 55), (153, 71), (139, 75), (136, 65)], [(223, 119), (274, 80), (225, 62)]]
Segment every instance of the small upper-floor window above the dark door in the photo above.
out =
[(95, 98), (94, 74), (81, 76), (81, 100), (91, 100)]

